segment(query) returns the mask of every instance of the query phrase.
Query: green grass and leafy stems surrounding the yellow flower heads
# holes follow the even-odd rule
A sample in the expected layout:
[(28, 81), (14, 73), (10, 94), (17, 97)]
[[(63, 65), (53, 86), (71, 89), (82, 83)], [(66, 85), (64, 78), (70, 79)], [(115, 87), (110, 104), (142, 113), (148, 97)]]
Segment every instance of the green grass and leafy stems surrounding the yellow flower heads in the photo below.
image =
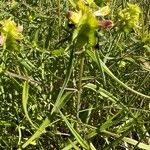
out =
[(98, 30), (82, 53), (68, 0), (0, 1), (0, 20), (23, 25), (19, 50), (0, 47), (0, 149), (150, 149), (150, 1), (110, 0), (107, 19), (127, 2), (138, 31)]

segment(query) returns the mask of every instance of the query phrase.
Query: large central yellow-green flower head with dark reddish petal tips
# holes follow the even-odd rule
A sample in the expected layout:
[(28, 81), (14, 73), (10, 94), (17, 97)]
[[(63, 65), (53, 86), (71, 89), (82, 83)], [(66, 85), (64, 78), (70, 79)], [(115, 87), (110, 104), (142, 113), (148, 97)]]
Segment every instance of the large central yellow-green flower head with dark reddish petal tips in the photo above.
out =
[[(106, 20), (101, 22), (96, 17), (104, 17), (110, 13), (109, 6), (104, 6), (102, 8), (96, 6), (92, 1), (87, 1), (87, 4), (83, 0), (78, 0), (76, 2), (77, 11), (69, 11), (67, 13), (67, 18), (73, 24), (75, 24), (76, 29), (73, 33), (73, 39), (76, 39), (76, 45), (82, 47), (85, 44), (93, 46), (96, 44), (96, 29), (99, 28), (111, 28), (112, 21)], [(95, 9), (95, 10), (94, 10)]]

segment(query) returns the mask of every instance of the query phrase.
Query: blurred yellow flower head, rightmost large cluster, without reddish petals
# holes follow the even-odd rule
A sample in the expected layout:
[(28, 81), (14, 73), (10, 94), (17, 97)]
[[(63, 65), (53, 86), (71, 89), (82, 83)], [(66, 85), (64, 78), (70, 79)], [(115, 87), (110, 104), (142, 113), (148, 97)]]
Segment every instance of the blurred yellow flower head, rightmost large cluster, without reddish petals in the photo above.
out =
[(129, 32), (137, 26), (140, 13), (141, 10), (138, 5), (128, 3), (127, 8), (121, 9), (118, 12), (118, 27), (125, 32)]

